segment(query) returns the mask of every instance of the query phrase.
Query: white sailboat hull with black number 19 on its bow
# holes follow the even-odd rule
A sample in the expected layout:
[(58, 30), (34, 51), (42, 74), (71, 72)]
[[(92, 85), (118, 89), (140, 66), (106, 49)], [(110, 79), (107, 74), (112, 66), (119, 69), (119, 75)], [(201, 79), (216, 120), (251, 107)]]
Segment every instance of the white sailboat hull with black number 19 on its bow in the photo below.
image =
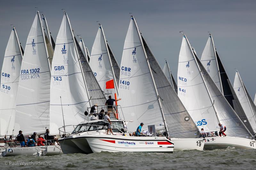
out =
[(174, 144), (174, 151), (184, 151), (184, 150), (204, 150), (204, 140), (203, 138), (171, 138)]

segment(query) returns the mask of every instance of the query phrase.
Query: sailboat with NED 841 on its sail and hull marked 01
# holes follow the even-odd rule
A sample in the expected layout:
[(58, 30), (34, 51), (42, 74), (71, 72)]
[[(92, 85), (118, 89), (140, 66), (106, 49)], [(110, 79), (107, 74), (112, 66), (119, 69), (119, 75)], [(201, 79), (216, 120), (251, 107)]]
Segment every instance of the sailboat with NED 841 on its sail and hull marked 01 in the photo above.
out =
[(227, 127), (227, 137), (206, 137), (204, 149), (227, 147), (256, 149), (256, 141), (218, 86), (198, 59), (194, 48), (183, 35), (178, 65), (178, 95), (199, 129), (218, 131), (218, 123)]

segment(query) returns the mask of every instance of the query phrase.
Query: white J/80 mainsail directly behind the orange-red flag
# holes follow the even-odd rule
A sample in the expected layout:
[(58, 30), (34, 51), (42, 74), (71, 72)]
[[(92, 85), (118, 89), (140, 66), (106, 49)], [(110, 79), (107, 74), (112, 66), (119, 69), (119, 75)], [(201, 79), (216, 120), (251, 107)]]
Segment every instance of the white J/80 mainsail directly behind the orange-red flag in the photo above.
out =
[[(92, 46), (90, 66), (100, 84), (101, 89), (107, 94), (112, 94), (112, 96), (115, 92), (118, 95), (118, 84), (116, 82), (107, 41), (101, 25)], [(106, 81), (111, 79), (114, 79), (115, 89), (106, 89)]]

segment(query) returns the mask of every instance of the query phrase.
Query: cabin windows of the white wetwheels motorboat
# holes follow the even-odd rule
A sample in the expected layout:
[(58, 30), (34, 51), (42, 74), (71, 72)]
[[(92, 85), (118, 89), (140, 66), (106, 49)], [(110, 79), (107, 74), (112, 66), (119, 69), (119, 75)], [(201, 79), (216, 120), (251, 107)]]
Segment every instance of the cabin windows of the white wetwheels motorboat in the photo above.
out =
[[(101, 130), (104, 129), (106, 126), (106, 122), (93, 122), (93, 123), (86, 123), (83, 125), (77, 125), (75, 130), (72, 133), (81, 133), (86, 131), (93, 131), (93, 130)], [(113, 132), (121, 132), (121, 129), (124, 129), (124, 125), (122, 122), (112, 122), (111, 125)]]

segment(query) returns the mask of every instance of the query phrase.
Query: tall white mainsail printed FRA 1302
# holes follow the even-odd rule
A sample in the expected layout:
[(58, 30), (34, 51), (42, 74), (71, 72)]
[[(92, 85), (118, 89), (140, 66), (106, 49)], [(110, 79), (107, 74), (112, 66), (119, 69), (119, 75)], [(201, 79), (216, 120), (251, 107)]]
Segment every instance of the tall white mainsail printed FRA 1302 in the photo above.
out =
[(44, 133), (49, 128), (51, 72), (44, 42), (44, 32), (37, 12), (23, 55), (16, 102), (15, 134)]

